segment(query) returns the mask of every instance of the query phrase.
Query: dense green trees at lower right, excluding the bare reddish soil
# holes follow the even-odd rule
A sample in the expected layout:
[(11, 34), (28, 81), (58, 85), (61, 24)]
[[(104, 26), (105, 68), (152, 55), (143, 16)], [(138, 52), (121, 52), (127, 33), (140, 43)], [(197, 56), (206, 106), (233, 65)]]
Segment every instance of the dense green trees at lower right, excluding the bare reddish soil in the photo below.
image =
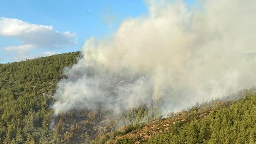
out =
[[(190, 122), (176, 121), (168, 132), (155, 134), (144, 144), (254, 144), (256, 142), (256, 94), (248, 94), (237, 102), (216, 102), (208, 116), (198, 119), (208, 111), (191, 108)], [(197, 113), (199, 112), (199, 114)]]

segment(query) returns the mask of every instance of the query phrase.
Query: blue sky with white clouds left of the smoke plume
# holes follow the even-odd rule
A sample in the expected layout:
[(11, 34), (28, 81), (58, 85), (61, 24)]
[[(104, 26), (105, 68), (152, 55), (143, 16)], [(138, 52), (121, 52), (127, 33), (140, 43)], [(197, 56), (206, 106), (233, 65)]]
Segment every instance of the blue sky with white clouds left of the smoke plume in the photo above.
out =
[[(188, 4), (193, 2), (186, 0)], [(143, 0), (1, 0), (0, 3), (0, 63), (78, 51), (86, 38), (110, 36), (125, 18), (148, 12)]]

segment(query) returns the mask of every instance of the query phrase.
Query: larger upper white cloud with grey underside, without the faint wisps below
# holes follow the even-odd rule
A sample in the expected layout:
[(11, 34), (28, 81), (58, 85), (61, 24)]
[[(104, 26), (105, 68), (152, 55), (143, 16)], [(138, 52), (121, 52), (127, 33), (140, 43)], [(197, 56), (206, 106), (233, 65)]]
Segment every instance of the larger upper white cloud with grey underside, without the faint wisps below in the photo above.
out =
[(70, 32), (58, 32), (52, 26), (30, 24), (15, 18), (0, 19), (0, 35), (15, 37), (24, 44), (35, 46), (72, 44), (72, 39), (76, 36)]

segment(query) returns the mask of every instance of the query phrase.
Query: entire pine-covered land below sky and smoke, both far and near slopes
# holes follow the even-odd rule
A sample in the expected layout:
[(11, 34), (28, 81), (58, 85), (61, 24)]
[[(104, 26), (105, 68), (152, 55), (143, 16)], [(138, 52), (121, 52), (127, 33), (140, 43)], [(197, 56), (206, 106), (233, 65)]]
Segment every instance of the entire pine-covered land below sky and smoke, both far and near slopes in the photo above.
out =
[(77, 58), (79, 52), (72, 52), (0, 64), (0, 143), (256, 143), (254, 87), (181, 112), (170, 112), (166, 118), (148, 116), (157, 110), (148, 109), (145, 104), (114, 116), (100, 106), (96, 112), (71, 110), (60, 114), (50, 128), (56, 83), (65, 78), (62, 69), (71, 67)]

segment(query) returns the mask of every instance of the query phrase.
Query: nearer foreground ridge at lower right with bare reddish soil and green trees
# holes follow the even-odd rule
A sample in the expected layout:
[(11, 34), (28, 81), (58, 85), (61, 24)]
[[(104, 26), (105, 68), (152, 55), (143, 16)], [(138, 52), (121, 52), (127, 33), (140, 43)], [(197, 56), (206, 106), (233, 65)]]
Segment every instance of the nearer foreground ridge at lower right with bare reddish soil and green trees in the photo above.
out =
[(92, 144), (255, 144), (256, 94), (245, 98), (193, 106), (154, 123), (128, 125)]

